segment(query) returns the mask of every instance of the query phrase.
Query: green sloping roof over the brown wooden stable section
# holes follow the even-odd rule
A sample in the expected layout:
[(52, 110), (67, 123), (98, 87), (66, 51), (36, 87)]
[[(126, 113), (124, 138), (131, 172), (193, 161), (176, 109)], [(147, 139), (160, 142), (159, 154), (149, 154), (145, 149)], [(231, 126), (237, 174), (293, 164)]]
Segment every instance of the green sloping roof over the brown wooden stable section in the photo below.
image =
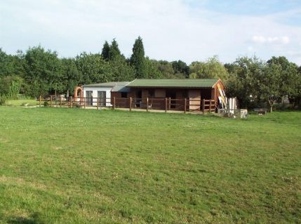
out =
[(212, 88), (218, 79), (135, 79), (127, 87)]

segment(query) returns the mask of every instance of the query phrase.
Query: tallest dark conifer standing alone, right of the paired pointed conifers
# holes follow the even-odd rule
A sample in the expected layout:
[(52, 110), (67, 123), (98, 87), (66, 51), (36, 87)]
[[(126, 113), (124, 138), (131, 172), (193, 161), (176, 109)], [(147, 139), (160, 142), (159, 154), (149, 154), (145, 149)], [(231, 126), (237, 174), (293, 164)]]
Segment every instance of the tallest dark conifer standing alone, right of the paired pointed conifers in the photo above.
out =
[(135, 78), (147, 78), (147, 66), (145, 62), (145, 49), (142, 38), (138, 37), (133, 46), (133, 54), (130, 59), (131, 65), (135, 68)]

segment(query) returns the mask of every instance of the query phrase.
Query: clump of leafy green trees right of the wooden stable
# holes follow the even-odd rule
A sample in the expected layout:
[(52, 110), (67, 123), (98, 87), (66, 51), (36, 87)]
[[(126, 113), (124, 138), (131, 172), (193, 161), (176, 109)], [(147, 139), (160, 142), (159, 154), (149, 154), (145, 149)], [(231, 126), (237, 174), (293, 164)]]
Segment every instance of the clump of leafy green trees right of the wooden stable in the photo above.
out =
[(226, 82), (226, 93), (236, 96), (241, 107), (258, 106), (266, 103), (271, 111), (282, 97), (297, 101), (301, 84), (297, 65), (285, 57), (273, 57), (267, 62), (258, 58), (238, 58), (225, 65), (230, 74)]

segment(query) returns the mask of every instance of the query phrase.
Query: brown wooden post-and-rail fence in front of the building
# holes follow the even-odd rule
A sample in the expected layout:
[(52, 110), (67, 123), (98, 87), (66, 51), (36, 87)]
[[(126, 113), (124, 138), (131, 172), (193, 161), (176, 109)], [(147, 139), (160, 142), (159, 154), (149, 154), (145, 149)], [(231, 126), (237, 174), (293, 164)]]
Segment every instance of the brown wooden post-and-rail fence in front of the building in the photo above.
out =
[(54, 95), (40, 96), (37, 100), (39, 107), (111, 107), (149, 110), (183, 111), (183, 112), (215, 112), (215, 100), (196, 100), (190, 98), (62, 98)]

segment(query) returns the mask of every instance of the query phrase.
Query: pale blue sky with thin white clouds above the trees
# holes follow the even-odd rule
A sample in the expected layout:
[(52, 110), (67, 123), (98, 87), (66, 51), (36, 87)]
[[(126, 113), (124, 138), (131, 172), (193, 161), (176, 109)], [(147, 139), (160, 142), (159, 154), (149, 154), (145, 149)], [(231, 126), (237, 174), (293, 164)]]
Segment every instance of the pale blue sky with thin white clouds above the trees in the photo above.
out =
[(286, 56), (301, 65), (301, 1), (0, 0), (0, 48), (7, 53), (40, 44), (74, 57), (116, 39), (130, 57), (138, 36), (157, 60)]

